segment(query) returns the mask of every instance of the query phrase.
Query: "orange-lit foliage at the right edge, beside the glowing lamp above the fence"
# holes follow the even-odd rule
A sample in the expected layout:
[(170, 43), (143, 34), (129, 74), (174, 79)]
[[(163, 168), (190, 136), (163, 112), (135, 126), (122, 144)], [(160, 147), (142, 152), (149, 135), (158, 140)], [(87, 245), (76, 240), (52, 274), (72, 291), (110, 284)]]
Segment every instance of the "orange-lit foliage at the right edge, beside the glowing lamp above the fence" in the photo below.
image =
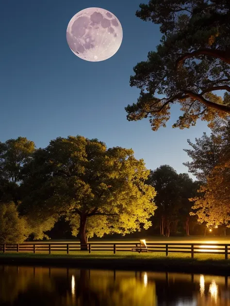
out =
[(194, 201), (193, 212), (200, 223), (208, 227), (230, 227), (230, 122), (221, 136), (218, 162), (201, 186), (200, 195)]

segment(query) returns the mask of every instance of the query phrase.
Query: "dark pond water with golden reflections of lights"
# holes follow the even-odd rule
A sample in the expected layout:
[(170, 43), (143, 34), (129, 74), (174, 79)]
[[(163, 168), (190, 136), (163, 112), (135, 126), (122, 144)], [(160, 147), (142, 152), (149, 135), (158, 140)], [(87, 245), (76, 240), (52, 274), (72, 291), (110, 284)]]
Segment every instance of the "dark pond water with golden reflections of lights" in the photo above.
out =
[(230, 277), (0, 266), (1, 306), (230, 306)]

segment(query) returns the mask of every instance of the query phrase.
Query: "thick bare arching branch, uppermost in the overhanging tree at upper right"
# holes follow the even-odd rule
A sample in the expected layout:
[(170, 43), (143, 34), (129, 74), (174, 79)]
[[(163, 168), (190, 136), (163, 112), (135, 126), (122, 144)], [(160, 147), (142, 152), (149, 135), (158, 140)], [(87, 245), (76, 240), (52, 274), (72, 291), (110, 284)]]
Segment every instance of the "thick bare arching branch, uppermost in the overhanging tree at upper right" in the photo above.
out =
[(230, 54), (229, 52), (222, 51), (222, 50), (214, 50), (209, 48), (200, 48), (195, 50), (191, 53), (184, 53), (182, 54), (176, 61), (176, 69), (178, 69), (179, 65), (181, 65), (185, 60), (197, 57), (200, 55), (208, 55), (210, 57), (218, 58), (227, 64), (230, 64)]

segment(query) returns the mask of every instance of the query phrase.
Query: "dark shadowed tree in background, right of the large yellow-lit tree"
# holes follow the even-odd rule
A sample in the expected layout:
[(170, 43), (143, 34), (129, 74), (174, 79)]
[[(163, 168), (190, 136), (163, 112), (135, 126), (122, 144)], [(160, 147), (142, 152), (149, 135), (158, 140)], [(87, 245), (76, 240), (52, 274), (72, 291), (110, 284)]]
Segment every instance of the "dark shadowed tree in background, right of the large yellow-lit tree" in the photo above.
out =
[(189, 216), (192, 206), (189, 198), (196, 195), (197, 182), (193, 182), (188, 174), (178, 174), (172, 167), (163, 165), (151, 171), (148, 183), (157, 192), (157, 211), (153, 220), (158, 219), (161, 234), (169, 236), (172, 225), (185, 222)]

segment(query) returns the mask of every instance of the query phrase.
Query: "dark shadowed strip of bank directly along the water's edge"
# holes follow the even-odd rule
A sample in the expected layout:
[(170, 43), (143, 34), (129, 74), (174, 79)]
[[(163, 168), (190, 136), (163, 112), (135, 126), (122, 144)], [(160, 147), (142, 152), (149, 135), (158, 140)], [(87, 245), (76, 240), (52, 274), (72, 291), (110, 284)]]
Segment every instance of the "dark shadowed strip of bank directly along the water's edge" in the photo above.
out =
[(74, 257), (20, 257), (0, 255), (0, 265), (55, 266), (65, 268), (134, 270), (186, 274), (230, 275), (230, 260), (196, 259), (106, 259)]

